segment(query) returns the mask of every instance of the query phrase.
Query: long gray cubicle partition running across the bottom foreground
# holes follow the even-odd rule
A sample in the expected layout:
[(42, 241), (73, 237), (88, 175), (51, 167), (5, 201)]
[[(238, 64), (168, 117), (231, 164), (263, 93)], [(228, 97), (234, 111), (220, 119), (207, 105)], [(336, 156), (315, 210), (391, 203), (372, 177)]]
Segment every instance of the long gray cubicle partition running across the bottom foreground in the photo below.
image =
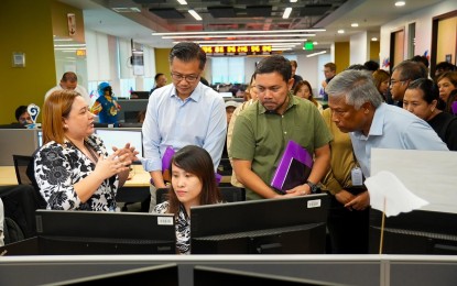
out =
[(450, 255), (44, 255), (1, 257), (0, 285), (50, 284), (170, 263), (178, 265), (181, 286), (194, 285), (197, 265), (356, 286), (457, 280), (457, 257)]

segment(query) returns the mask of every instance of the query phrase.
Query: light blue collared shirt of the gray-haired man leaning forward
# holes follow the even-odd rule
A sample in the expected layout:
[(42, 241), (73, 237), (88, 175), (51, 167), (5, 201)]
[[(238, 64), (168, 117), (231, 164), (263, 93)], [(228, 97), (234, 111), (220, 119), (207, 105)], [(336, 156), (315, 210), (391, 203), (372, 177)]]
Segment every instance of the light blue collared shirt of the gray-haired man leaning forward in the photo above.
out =
[(368, 136), (350, 133), (353, 152), (363, 175), (370, 176), (371, 148), (448, 151), (427, 122), (413, 113), (382, 103), (374, 111)]

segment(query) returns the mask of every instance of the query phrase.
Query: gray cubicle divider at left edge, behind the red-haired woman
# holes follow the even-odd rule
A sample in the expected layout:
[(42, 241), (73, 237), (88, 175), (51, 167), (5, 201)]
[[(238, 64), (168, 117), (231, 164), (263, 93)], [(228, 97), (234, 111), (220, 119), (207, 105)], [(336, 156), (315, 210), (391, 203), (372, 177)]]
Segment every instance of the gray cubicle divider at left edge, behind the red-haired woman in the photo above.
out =
[(13, 154), (30, 156), (39, 147), (39, 129), (0, 129), (0, 166), (12, 166)]

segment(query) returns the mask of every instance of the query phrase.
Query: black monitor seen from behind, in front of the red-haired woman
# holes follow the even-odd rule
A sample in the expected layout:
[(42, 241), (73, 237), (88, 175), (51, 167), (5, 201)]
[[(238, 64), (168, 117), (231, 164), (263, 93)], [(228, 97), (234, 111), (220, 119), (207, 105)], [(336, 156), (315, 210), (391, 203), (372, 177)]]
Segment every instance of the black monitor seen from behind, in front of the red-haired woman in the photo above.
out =
[(39, 253), (175, 254), (171, 213), (109, 211), (35, 211)]

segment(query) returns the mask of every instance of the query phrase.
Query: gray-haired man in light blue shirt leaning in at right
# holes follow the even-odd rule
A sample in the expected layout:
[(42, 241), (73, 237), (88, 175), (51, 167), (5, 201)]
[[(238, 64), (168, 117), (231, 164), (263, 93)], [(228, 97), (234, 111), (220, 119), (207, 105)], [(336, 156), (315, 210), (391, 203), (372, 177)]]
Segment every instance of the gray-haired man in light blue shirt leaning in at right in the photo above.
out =
[[(341, 72), (328, 84), (326, 91), (331, 120), (340, 131), (350, 132), (364, 177), (371, 175), (371, 148), (448, 150), (427, 122), (406, 110), (383, 103), (371, 73)], [(369, 202), (368, 191), (364, 191), (345, 207), (363, 210)]]

